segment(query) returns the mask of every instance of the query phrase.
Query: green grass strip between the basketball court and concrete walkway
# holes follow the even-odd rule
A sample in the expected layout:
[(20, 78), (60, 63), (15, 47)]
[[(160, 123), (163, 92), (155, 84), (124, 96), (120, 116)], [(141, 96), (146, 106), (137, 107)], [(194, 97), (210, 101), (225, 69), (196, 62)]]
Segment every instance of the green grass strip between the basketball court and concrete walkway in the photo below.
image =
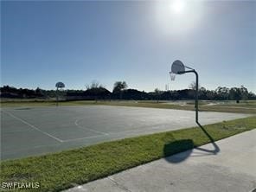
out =
[[(204, 128), (217, 141), (256, 128), (256, 118), (240, 118)], [(40, 182), (41, 191), (60, 191), (74, 183), (90, 182), (209, 142), (205, 133), (194, 127), (2, 161), (0, 182)]]

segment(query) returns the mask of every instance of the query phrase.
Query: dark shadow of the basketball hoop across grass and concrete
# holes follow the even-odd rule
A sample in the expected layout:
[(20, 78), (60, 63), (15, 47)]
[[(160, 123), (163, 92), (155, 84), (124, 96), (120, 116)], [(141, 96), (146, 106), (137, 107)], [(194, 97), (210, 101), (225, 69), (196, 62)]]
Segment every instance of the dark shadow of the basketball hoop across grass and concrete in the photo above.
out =
[[(192, 155), (193, 157), (216, 155), (218, 152), (220, 152), (220, 147), (217, 144), (215, 144), (214, 138), (212, 138), (208, 134), (208, 131), (206, 131), (199, 122), (197, 122), (197, 125), (199, 125), (201, 130), (208, 137), (211, 144), (214, 146), (214, 149), (209, 150), (202, 147), (196, 147), (195, 149), (193, 149), (195, 145), (192, 139), (177, 140), (174, 142), (170, 142), (169, 144), (164, 144), (163, 154), (166, 161), (170, 163), (181, 163), (182, 161), (186, 160), (188, 157), (191, 156), (192, 151), (193, 151), (193, 155)], [(176, 154), (176, 153), (179, 153), (179, 154)]]

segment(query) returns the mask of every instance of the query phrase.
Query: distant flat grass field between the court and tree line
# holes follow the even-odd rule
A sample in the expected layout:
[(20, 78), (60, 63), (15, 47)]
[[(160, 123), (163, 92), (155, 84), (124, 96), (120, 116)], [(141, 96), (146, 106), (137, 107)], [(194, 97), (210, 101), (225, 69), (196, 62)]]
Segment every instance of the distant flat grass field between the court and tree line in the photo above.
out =
[[(213, 105), (209, 105), (213, 104)], [(157, 101), (63, 101), (60, 106), (87, 106), (87, 105), (105, 105), (105, 106), (137, 106), (152, 107), (163, 109), (181, 109), (195, 110), (194, 101), (177, 101), (177, 102), (157, 102)], [(1, 102), (1, 106), (56, 106), (54, 101), (42, 100), (16, 100)], [(199, 110), (202, 112), (239, 112), (256, 114), (256, 101), (241, 101), (236, 104), (234, 101), (200, 101)]]

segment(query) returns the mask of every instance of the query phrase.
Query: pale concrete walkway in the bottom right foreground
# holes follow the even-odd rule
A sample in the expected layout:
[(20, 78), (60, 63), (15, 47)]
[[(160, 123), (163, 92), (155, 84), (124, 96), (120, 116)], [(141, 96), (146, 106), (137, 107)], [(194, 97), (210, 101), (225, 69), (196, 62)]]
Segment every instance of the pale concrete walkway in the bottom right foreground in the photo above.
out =
[[(68, 192), (250, 192), (256, 189), (256, 130), (125, 170)], [(255, 189), (255, 190), (253, 190)]]

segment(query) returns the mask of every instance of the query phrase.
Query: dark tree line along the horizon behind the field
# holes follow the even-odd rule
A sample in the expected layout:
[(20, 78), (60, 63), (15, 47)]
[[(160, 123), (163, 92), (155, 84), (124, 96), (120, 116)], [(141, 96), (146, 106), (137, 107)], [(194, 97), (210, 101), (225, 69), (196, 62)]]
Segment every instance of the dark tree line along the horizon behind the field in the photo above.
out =
[[(13, 86), (0, 87), (1, 98), (12, 99), (51, 99), (56, 97), (56, 90), (43, 90), (37, 87), (35, 90), (27, 88), (16, 88)], [(62, 90), (58, 92), (62, 99), (127, 99), (127, 100), (178, 100), (194, 99), (195, 83), (192, 83), (188, 89), (161, 91), (158, 88), (154, 92), (146, 93), (136, 89), (128, 88), (125, 81), (116, 81), (113, 85), (112, 92), (107, 90), (97, 81), (86, 86), (86, 90)], [(208, 100), (237, 100), (256, 99), (256, 95), (248, 92), (245, 86), (227, 88), (218, 86), (215, 90), (207, 90), (205, 87), (199, 87), (199, 99)]]

